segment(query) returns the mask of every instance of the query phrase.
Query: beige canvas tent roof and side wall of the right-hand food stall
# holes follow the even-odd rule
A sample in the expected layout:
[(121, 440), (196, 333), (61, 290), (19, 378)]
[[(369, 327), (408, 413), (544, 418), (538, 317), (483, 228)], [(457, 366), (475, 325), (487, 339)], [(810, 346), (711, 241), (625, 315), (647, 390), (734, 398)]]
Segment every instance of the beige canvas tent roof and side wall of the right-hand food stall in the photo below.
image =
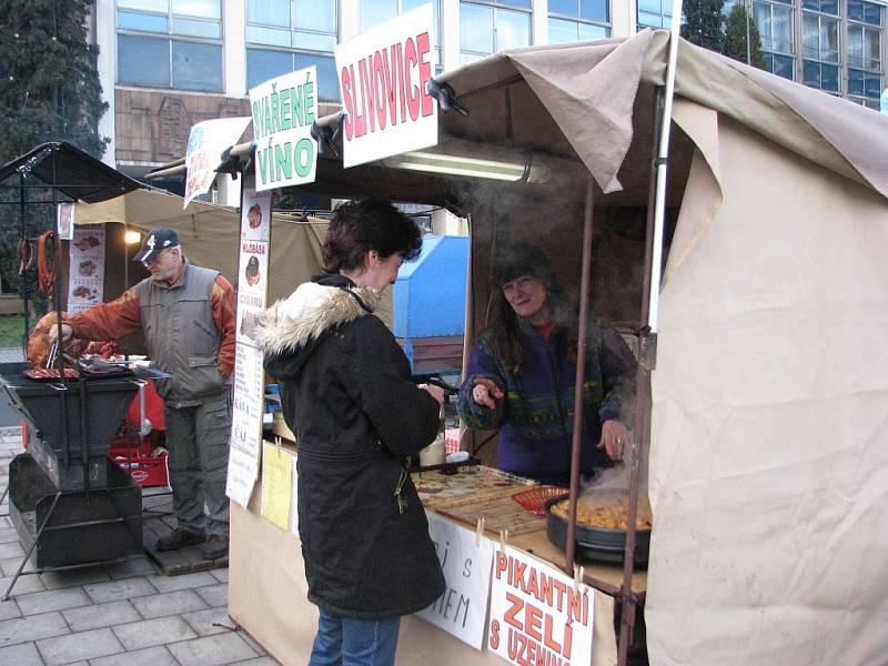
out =
[[(436, 150), (533, 159), (542, 182), (395, 161), (345, 170), (326, 151), (303, 189), (471, 215), (468, 333), (507, 241), (535, 242), (575, 284), (588, 185), (594, 306), (632, 327), (667, 43), (645, 31), (535, 47), (440, 78), (471, 113), (440, 115)], [(650, 663), (884, 663), (888, 119), (686, 42), (676, 94), (652, 377)]]

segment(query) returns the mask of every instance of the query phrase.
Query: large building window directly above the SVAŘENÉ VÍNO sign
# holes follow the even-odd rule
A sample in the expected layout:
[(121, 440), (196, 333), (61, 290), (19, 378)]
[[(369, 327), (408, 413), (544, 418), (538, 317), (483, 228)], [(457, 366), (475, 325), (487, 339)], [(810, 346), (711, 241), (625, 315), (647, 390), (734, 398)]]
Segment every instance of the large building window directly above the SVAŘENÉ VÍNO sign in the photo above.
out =
[(340, 99), (336, 0), (246, 0), (246, 88), (312, 64), (317, 99)]

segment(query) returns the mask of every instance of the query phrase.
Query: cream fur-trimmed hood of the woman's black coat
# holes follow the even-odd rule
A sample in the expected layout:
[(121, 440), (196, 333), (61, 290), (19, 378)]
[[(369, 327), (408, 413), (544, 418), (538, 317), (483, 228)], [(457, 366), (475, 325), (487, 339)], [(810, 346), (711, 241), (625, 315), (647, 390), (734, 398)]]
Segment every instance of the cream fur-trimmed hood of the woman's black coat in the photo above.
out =
[(370, 287), (341, 275), (323, 275), (265, 310), (252, 336), (266, 359), (307, 356), (325, 331), (372, 314), (379, 302), (379, 294)]

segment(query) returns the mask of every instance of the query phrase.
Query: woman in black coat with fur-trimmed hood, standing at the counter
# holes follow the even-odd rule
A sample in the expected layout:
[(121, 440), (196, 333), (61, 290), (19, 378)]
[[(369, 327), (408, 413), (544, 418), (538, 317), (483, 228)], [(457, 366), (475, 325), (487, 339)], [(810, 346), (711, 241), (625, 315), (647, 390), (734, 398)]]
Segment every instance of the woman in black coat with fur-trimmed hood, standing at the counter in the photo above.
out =
[(437, 433), (440, 389), (420, 389), (373, 312), (420, 231), (391, 203), (340, 205), (326, 273), (263, 313), (256, 340), (296, 433), (299, 532), (320, 608), (311, 664), (392, 664), (400, 617), (444, 592), (404, 466)]

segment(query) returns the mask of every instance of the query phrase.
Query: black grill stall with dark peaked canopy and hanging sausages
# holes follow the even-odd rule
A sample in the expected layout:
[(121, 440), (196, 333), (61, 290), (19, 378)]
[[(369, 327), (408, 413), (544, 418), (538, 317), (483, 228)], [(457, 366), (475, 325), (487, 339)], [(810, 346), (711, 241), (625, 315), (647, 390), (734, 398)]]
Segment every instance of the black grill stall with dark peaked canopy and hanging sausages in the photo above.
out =
[[(65, 206), (75, 201), (100, 202), (139, 183), (68, 143), (38, 145), (0, 167), (0, 183), (4, 191), (18, 194), (4, 198), (3, 203), (18, 208), (20, 271), (37, 263), (39, 286), (61, 325), (62, 282), (67, 283), (60, 268), (62, 239), (72, 239), (70, 219), (62, 212), (70, 211)], [(29, 213), (49, 222), (50, 229), (39, 239), (27, 233)], [(85, 272), (95, 268), (81, 264)], [(107, 457), (140, 379), (129, 369), (102, 372), (109, 369), (74, 365), (64, 353), (53, 351), (46, 367), (29, 363), (0, 367), (0, 386), (22, 414), (28, 446), (11, 462), (3, 492), (4, 496), (9, 493), (12, 524), (28, 546), (4, 599), (29, 557), (43, 569), (141, 551), (141, 488)]]

